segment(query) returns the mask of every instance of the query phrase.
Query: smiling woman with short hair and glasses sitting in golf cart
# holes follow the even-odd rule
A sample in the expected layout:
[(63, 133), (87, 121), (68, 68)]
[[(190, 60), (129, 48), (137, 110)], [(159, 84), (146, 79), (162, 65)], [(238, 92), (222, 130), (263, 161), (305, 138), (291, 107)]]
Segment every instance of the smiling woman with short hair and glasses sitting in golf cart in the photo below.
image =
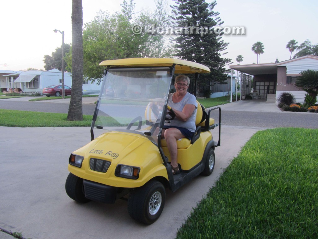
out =
[(162, 129), (162, 138), (166, 139), (170, 153), (171, 168), (174, 174), (180, 172), (177, 163), (177, 140), (181, 138), (191, 139), (196, 125), (197, 101), (187, 89), (190, 84), (188, 76), (179, 75), (175, 79), (176, 92), (169, 95), (168, 105), (175, 112), (176, 117), (166, 122)]

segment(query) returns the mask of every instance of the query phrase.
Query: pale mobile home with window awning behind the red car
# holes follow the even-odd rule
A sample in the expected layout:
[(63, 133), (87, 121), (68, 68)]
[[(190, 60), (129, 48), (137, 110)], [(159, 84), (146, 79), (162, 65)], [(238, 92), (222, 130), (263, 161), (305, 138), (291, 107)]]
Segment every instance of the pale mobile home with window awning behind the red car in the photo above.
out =
[[(10, 88), (13, 85), (14, 88), (18, 88), (24, 93), (42, 94), (43, 88), (49, 85), (62, 84), (62, 72), (58, 69), (48, 71), (28, 70), (3, 76), (6, 77), (7, 85), (10, 85)], [(14, 79), (13, 84), (8, 84), (10, 79)], [(64, 85), (72, 88), (72, 73), (64, 73)], [(100, 85), (83, 81), (83, 94), (99, 94), (99, 91)]]

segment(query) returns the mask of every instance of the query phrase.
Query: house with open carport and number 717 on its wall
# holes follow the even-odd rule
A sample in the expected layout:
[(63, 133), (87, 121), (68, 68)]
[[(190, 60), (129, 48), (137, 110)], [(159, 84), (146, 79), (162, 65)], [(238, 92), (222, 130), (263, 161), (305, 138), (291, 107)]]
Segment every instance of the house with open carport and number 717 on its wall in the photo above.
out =
[[(282, 92), (290, 92), (296, 102), (304, 103), (306, 91), (302, 91), (294, 84), (301, 71), (308, 69), (318, 70), (318, 56), (306, 55), (278, 63), (231, 65), (230, 69), (240, 71), (242, 75), (253, 76), (252, 88), (259, 96), (267, 100), (271, 96), (278, 104), (278, 98)], [(251, 78), (248, 78), (250, 81)], [(242, 95), (243, 92), (243, 84)], [(245, 82), (249, 86), (248, 82)], [(248, 94), (251, 91), (247, 91)]]

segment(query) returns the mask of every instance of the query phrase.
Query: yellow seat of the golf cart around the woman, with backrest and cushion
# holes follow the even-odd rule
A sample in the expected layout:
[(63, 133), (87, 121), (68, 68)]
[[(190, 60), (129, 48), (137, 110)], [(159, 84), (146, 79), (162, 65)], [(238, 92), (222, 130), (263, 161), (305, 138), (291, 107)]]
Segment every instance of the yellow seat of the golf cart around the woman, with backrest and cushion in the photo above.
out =
[[(214, 119), (210, 119), (208, 117), (208, 114), (206, 113), (204, 106), (201, 105), (198, 101), (197, 104), (198, 107), (196, 117), (196, 131), (194, 132), (194, 135), (192, 136), (191, 140), (189, 140), (188, 138), (182, 138), (177, 140), (178, 149), (188, 148), (190, 144), (193, 144), (200, 138), (201, 131), (208, 131), (210, 129), (210, 126), (214, 124)], [(165, 139), (161, 140), (161, 146), (167, 147), (167, 141)]]

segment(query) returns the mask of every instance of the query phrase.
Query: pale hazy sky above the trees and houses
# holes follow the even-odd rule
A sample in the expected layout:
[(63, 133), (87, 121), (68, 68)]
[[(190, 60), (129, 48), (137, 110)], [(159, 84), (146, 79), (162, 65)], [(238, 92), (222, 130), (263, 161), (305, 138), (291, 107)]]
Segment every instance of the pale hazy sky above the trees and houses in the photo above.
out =
[[(94, 19), (100, 10), (120, 11), (122, 0), (82, 0), (83, 22)], [(127, 0), (129, 2), (129, 0)], [(135, 0), (135, 11), (154, 11), (154, 0)], [(169, 5), (172, 0), (166, 0)], [(211, 0), (206, 0), (211, 3)], [(44, 69), (44, 55), (51, 55), (64, 42), (72, 43), (71, 0), (3, 0), (0, 3), (0, 70)], [(223, 57), (232, 59), (243, 56), (240, 64), (257, 62), (252, 45), (261, 41), (264, 54), (260, 63), (288, 60), (286, 48), (290, 40), (298, 45), (309, 39), (318, 43), (318, 1), (316, 0), (217, 0), (213, 9), (224, 21), (223, 27), (244, 27), (245, 35), (224, 35), (229, 45)], [(295, 52), (294, 52), (295, 53)], [(294, 55), (293, 53), (293, 55)], [(228, 66), (227, 66), (228, 68)]]

